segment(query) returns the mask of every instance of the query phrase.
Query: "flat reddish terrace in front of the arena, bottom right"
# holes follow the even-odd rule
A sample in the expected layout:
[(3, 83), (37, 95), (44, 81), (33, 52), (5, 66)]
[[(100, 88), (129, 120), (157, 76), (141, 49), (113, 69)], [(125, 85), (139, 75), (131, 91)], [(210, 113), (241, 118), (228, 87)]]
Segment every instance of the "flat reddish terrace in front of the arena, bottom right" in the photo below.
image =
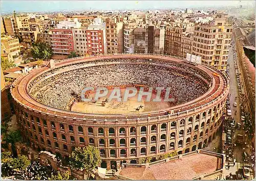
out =
[(193, 154), (146, 168), (128, 167), (120, 175), (132, 179), (193, 179), (217, 170), (218, 158), (207, 154)]

